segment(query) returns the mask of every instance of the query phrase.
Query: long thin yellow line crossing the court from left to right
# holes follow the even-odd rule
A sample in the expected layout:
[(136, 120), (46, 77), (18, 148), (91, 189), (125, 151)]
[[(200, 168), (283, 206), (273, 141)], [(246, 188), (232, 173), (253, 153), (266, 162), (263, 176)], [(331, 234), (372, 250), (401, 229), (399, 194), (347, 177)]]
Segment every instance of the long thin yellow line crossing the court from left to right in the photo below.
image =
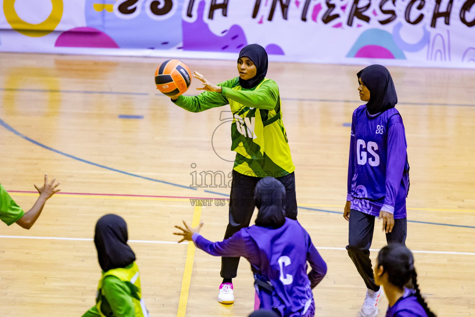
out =
[[(36, 193), (24, 193), (24, 192), (9, 192), (11, 196), (38, 196)], [(150, 200), (150, 201), (165, 201), (165, 202), (190, 202), (190, 198), (160, 198), (160, 197), (136, 197), (136, 196), (104, 196), (104, 195), (68, 195), (61, 194), (55, 197), (69, 197), (69, 198), (105, 198), (105, 199), (125, 199), (125, 200)], [(195, 199), (195, 198), (192, 198)], [(202, 198), (196, 198), (197, 200)], [(214, 199), (214, 198), (204, 198)], [(228, 198), (224, 198), (228, 199)], [(324, 205), (315, 203), (299, 203), (298, 206), (311, 206), (311, 207), (338, 207), (343, 208), (343, 205)], [(427, 210), (427, 211), (461, 211), (461, 212), (475, 212), (471, 209), (440, 209), (440, 208), (413, 208), (407, 207), (409, 210)]]

